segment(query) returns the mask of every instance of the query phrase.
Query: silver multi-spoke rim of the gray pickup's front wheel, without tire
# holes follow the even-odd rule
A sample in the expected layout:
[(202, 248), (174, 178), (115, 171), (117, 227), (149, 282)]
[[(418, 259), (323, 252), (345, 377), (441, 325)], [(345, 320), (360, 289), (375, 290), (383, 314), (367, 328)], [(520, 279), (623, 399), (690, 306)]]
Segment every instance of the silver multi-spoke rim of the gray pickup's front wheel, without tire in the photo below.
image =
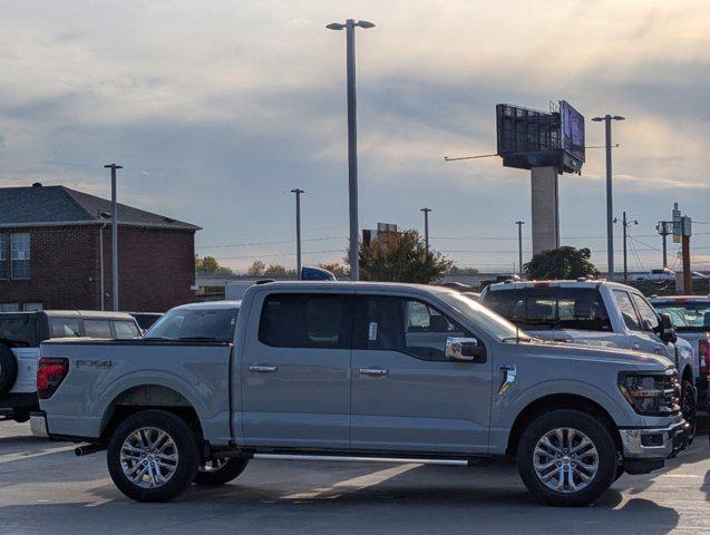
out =
[(594, 442), (582, 431), (561, 427), (545, 434), (533, 450), (535, 474), (557, 493), (576, 493), (585, 488), (599, 470)]

